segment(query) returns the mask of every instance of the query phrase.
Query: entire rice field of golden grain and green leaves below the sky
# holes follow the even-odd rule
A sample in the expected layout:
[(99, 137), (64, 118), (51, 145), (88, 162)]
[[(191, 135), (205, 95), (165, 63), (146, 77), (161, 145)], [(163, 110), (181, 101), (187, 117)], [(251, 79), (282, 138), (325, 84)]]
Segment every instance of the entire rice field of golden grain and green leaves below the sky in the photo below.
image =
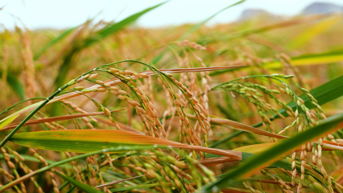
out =
[(0, 192), (342, 192), (342, 16), (129, 27), (161, 5), (2, 29)]

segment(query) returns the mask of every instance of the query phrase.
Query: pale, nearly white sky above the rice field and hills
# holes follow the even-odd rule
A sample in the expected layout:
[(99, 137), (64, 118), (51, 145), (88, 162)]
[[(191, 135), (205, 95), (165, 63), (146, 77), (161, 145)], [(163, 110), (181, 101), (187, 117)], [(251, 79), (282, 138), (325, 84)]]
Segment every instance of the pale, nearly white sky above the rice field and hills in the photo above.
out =
[[(19, 20), (15, 19), (18, 17), (29, 29), (63, 29), (82, 24), (101, 11), (102, 13), (97, 17), (98, 20), (119, 21), (161, 2), (164, 1), (0, 0), (0, 8), (5, 6), (3, 10), (0, 10), (0, 24), (4, 24), (6, 28), (13, 28), (15, 24), (21, 26)], [(138, 25), (163, 27), (197, 23), (236, 2), (237, 0), (172, 0), (144, 15), (139, 19)], [(222, 12), (209, 24), (235, 21), (245, 9), (264, 9), (273, 14), (292, 16), (313, 2), (328, 2), (343, 6), (342, 0), (247, 0)]]

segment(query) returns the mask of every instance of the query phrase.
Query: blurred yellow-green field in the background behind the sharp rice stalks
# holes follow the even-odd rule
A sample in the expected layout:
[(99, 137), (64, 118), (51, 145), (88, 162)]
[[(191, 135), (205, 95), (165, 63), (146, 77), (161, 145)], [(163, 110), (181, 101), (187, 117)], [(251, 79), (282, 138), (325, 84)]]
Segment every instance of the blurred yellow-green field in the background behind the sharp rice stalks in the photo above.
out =
[[(6, 11), (6, 7), (4, 9)], [(276, 55), (281, 53), (290, 58), (309, 55), (308, 60), (295, 60), (292, 66), (300, 72), (305, 87), (314, 88), (343, 72), (340, 62), (343, 58), (343, 39), (340, 38), (343, 25), (339, 9), (341, 7), (330, 3), (314, 3), (294, 17), (250, 9), (245, 10), (236, 22), (205, 24), (195, 31), (194, 26), (188, 24), (155, 29), (131, 25), (113, 29), (103, 37), (98, 35), (100, 29), (106, 29), (110, 23), (88, 21), (67, 30), (3, 28), (1, 106), (28, 97), (44, 96), (79, 72), (100, 64), (126, 59), (151, 63), (156, 56), (167, 52), (155, 66), (159, 69), (180, 67), (173, 57), (177, 50), (168, 48), (185, 39), (207, 48), (196, 51), (207, 66), (259, 66), (277, 60)], [(84, 45), (93, 39), (94, 43)], [(251, 64), (251, 59), (256, 62)], [(200, 65), (195, 61), (194, 66)], [(132, 68), (142, 70), (138, 66)], [(271, 65), (263, 71), (291, 73), (284, 65)], [(242, 76), (251, 74), (251, 71), (240, 70), (238, 73)], [(233, 76), (239, 75), (221, 76), (219, 72), (213, 78), (223, 82)], [(339, 105), (327, 106), (327, 113), (335, 113), (341, 108)]]

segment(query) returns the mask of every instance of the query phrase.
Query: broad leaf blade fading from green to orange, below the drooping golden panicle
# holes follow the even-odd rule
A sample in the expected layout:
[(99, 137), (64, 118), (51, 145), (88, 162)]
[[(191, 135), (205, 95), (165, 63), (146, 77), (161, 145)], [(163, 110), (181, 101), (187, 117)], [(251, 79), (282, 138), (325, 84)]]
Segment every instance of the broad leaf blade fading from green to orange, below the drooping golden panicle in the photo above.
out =
[(15, 134), (11, 142), (32, 148), (87, 153), (118, 146), (165, 145), (242, 159), (241, 152), (193, 146), (123, 130), (48, 130)]

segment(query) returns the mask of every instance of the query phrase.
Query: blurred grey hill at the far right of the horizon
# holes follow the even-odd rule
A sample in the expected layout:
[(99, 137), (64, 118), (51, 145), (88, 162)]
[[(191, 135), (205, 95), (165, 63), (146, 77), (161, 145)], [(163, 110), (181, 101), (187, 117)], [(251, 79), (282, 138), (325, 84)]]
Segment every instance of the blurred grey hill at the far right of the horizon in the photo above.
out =
[(307, 6), (302, 12), (302, 15), (311, 15), (311, 14), (332, 14), (341, 12), (343, 13), (343, 7), (337, 6), (330, 3), (321, 3), (316, 2)]

